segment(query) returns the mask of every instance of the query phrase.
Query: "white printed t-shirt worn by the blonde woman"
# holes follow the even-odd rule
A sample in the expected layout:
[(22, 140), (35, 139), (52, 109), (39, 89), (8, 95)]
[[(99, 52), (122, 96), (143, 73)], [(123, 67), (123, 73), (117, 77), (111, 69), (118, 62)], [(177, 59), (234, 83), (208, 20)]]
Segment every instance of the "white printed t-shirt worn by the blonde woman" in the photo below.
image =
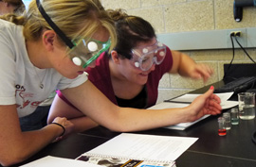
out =
[(33, 66), (22, 31), (22, 25), (0, 19), (0, 105), (16, 104), (19, 117), (31, 114), (54, 90), (77, 87), (87, 80), (85, 74), (68, 79), (53, 68)]

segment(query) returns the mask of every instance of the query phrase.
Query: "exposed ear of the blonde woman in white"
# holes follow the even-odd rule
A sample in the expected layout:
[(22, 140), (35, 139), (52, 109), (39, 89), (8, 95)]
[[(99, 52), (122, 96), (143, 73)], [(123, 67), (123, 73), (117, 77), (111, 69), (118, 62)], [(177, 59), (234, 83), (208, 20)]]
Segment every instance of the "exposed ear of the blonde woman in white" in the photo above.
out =
[(46, 46), (47, 51), (52, 51), (54, 49), (54, 43), (57, 42), (56, 33), (53, 30), (46, 30), (43, 33), (42, 41)]

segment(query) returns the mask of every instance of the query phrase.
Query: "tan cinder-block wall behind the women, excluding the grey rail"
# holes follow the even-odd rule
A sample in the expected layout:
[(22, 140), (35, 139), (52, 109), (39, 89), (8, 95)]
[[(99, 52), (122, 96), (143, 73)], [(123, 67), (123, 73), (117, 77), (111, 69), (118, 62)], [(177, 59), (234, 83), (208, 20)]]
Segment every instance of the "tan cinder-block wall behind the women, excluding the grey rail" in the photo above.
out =
[[(234, 0), (101, 0), (105, 8), (124, 8), (128, 14), (149, 21), (156, 34), (217, 29), (233, 29), (256, 26), (256, 8), (244, 8), (243, 20), (233, 19)], [(172, 49), (172, 48), (171, 48)], [(247, 49), (256, 59), (256, 50)], [(159, 85), (158, 102), (176, 95), (190, 92), (204, 85), (221, 80), (223, 64), (229, 63), (232, 50), (186, 51), (197, 63), (206, 63), (214, 69), (207, 83), (179, 75), (164, 75)], [(233, 63), (252, 63), (241, 49), (235, 50)]]

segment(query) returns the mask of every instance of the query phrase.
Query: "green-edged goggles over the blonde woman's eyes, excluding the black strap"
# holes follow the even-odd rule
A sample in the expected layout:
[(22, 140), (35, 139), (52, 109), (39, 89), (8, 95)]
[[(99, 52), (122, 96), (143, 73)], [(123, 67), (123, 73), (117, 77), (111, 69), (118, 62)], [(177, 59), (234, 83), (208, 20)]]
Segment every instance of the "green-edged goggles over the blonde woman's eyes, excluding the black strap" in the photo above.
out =
[(76, 42), (76, 46), (69, 50), (67, 54), (74, 64), (86, 68), (90, 63), (99, 58), (102, 52), (108, 50), (110, 45), (110, 39), (107, 42), (82, 39)]

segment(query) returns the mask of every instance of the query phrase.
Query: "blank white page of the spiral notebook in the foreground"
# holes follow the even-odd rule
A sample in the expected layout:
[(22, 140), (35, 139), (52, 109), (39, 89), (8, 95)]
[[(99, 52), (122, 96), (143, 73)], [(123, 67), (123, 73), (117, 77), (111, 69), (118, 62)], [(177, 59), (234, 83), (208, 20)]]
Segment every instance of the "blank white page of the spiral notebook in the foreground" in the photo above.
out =
[(84, 153), (101, 156), (155, 161), (174, 161), (198, 138), (121, 133)]

